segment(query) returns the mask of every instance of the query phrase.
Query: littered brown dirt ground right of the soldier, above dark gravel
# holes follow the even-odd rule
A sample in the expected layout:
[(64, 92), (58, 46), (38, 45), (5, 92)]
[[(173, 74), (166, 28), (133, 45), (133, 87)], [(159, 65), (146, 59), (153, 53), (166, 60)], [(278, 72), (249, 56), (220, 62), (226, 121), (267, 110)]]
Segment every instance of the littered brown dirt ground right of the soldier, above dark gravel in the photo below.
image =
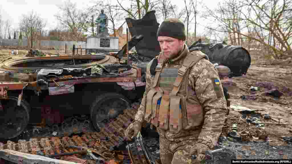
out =
[[(254, 134), (247, 137), (247, 141), (259, 141), (260, 139), (257, 139), (257, 137), (260, 137), (262, 140), (270, 140), (272, 145), (284, 146), (287, 142), (282, 141), (282, 136), (292, 136), (291, 125), (262, 124), (258, 126), (247, 123), (246, 119), (258, 117), (258, 122), (292, 124), (291, 58), (278, 61), (262, 58), (258, 60), (258, 56), (254, 55), (255, 53), (250, 53), (252, 63), (247, 74), (226, 80), (225, 86), (227, 86), (230, 94), (231, 108), (222, 135), (227, 136), (227, 133), (232, 131), (232, 125), (237, 124), (237, 132)], [(259, 87), (259, 90), (251, 91), (251, 86)], [(283, 93), (281, 97), (277, 98), (265, 93), (260, 94), (275, 88)], [(244, 99), (243, 95), (254, 96), (245, 96)], [(247, 107), (257, 111), (243, 114), (244, 112), (234, 109), (234, 106)], [(265, 114), (268, 114), (270, 118), (265, 119)], [(261, 134), (256, 135), (256, 133)]]

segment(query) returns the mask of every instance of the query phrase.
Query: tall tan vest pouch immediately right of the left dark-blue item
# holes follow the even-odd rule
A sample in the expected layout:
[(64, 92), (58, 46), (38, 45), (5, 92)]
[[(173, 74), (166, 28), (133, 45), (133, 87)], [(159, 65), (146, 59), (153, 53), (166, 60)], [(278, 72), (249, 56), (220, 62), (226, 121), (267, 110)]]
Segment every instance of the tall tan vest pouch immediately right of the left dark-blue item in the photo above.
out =
[(159, 128), (168, 130), (169, 125), (169, 96), (163, 95), (159, 106)]

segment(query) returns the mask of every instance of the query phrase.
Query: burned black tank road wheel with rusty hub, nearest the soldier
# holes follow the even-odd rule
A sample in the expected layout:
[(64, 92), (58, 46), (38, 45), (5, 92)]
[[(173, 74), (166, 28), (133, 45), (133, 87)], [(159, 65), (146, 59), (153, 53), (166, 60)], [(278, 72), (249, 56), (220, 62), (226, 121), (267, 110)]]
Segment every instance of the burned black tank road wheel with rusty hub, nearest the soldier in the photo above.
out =
[(110, 119), (130, 107), (129, 100), (118, 93), (105, 93), (99, 95), (91, 105), (91, 121), (95, 130), (99, 131)]

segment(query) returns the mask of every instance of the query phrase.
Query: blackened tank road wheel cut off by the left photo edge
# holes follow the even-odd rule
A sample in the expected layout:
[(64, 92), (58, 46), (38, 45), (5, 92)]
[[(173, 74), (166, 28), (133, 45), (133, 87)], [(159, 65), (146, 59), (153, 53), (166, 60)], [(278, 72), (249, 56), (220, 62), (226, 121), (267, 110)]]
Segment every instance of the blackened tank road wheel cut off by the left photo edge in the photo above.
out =
[(17, 106), (17, 97), (0, 99), (0, 138), (11, 139), (17, 137), (26, 128), (29, 122), (30, 106), (26, 101), (21, 101)]

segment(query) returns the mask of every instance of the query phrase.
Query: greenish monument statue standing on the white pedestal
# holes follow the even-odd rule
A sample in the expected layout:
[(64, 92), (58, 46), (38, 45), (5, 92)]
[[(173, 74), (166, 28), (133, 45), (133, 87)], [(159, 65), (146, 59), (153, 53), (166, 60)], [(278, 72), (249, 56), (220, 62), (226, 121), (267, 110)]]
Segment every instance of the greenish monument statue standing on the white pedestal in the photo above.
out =
[(97, 25), (97, 36), (106, 37), (108, 36), (107, 30), (108, 19), (107, 16), (103, 13), (104, 10), (101, 10), (100, 12), (101, 12), (100, 15), (95, 20), (95, 23)]

